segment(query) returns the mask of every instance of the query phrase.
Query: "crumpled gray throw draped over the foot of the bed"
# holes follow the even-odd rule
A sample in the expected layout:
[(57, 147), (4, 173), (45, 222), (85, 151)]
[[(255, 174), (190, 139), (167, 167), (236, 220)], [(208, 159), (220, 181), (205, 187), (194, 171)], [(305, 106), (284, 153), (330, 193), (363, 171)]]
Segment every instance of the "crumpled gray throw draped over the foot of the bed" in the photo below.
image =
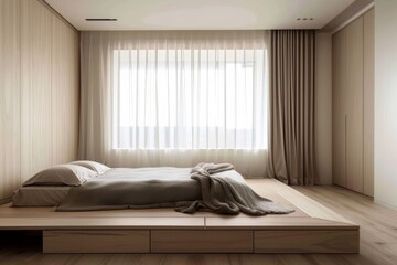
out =
[(179, 212), (193, 213), (211, 211), (221, 214), (251, 215), (286, 214), (294, 210), (258, 195), (244, 182), (230, 178), (216, 177), (214, 173), (234, 169), (229, 163), (198, 163), (191, 171), (191, 178), (201, 184), (202, 200), (180, 206)]

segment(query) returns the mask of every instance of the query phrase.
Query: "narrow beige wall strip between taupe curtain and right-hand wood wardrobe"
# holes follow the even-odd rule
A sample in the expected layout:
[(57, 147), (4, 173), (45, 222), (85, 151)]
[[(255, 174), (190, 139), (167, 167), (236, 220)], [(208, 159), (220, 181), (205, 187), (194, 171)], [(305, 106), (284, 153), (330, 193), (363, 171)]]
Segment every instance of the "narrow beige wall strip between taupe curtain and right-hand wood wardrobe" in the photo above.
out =
[(316, 184), (332, 184), (332, 35), (316, 34), (315, 46)]

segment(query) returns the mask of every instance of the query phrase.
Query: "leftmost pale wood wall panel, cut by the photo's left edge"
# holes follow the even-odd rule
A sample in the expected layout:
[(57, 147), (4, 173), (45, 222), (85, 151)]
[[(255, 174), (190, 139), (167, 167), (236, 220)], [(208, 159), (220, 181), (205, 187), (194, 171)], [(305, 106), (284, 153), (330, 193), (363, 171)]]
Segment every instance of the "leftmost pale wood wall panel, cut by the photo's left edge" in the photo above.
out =
[(20, 184), (20, 1), (0, 1), (0, 200)]

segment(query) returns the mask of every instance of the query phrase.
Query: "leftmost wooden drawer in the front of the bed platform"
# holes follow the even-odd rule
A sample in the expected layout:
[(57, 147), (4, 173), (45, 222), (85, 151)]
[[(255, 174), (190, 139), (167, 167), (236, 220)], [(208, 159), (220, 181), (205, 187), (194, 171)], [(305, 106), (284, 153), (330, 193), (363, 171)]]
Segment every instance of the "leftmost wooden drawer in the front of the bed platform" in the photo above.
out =
[(44, 253), (149, 253), (148, 230), (43, 231)]

